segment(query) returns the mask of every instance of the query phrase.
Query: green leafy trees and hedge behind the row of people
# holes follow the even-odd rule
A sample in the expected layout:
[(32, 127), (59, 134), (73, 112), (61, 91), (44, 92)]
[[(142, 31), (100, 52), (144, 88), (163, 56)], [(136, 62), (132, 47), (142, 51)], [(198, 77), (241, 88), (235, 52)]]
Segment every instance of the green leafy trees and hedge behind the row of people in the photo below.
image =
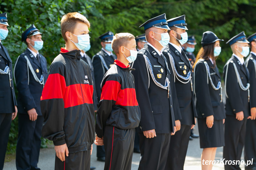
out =
[[(222, 72), (225, 62), (232, 54), (225, 44), (229, 38), (245, 31), (249, 36), (256, 32), (255, 0), (0, 0), (0, 12), (7, 12), (10, 27), (6, 40), (12, 60), (15, 62), (25, 49), (21, 33), (34, 24), (43, 34), (44, 47), (40, 50), (50, 66), (60, 48), (65, 46), (61, 36), (60, 20), (68, 12), (79, 12), (91, 23), (90, 56), (100, 49), (98, 36), (106, 31), (129, 32), (139, 35), (144, 32), (139, 26), (148, 19), (166, 13), (170, 19), (186, 14), (188, 34), (195, 35), (195, 55), (202, 33), (210, 30), (219, 38), (222, 52), (217, 65)], [(7, 153), (14, 153), (18, 136), (18, 118), (12, 122)], [(45, 147), (46, 140), (42, 146)]]

